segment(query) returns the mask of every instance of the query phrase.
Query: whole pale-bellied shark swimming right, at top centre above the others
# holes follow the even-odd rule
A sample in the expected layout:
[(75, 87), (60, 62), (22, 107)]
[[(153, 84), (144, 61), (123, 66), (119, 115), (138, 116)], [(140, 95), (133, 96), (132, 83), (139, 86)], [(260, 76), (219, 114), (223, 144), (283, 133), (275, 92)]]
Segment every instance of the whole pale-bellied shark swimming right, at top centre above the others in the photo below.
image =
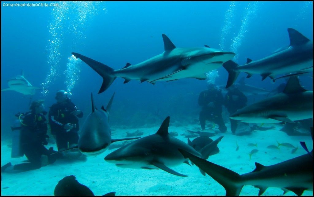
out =
[(208, 47), (176, 48), (165, 34), (162, 34), (162, 38), (165, 47), (163, 53), (135, 65), (127, 63), (119, 70), (114, 70), (79, 53), (73, 52), (72, 54), (84, 61), (103, 78), (99, 93), (109, 88), (116, 77), (125, 79), (124, 83), (139, 80), (141, 83), (147, 81), (152, 84), (157, 81), (169, 82), (182, 78), (204, 80), (207, 78), (205, 73), (221, 67), (223, 63), (235, 56), (233, 52)]

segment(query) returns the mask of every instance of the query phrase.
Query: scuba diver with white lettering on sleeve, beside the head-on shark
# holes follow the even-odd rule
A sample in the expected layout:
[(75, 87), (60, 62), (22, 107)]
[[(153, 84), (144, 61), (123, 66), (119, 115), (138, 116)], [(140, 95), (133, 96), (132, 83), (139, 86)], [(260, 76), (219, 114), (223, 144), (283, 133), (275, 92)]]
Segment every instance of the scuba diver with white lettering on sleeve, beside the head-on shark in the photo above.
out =
[(55, 136), (58, 151), (68, 149), (78, 144), (78, 118), (83, 117), (83, 112), (71, 102), (72, 94), (64, 90), (57, 92), (49, 110), (49, 123), (51, 134)]

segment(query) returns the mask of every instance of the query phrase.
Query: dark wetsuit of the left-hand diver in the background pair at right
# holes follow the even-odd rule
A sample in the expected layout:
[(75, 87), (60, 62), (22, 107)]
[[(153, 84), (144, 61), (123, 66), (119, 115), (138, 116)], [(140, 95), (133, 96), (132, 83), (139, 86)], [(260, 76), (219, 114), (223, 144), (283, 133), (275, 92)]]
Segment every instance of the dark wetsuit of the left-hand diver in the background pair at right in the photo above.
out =
[[(214, 107), (208, 106), (210, 102), (214, 102)], [(227, 131), (227, 127), (225, 126), (225, 122), (221, 115), (223, 102), (224, 98), (222, 96), (221, 90), (204, 90), (199, 94), (198, 104), (202, 106), (202, 110), (199, 113), (199, 122), (201, 124), (202, 130), (205, 129), (205, 122), (208, 120), (217, 124), (219, 126), (220, 132)]]

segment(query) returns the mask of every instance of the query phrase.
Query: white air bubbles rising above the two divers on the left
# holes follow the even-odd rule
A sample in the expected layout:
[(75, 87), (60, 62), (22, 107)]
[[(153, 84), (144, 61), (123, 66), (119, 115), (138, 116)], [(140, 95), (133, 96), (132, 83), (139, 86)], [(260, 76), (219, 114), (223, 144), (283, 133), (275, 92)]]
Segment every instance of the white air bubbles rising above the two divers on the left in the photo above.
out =
[[(65, 38), (73, 40), (71, 42), (72, 49), (83, 48), (87, 22), (99, 13), (106, 13), (104, 4), (100, 2), (59, 2), (58, 6), (52, 10), (51, 22), (48, 25), (50, 40), (48, 40), (46, 52), (49, 71), (45, 82), (41, 84), (44, 98), (49, 92), (48, 87), (56, 80), (57, 76), (60, 76), (60, 61), (62, 59), (60, 48), (63, 46)], [(65, 84), (67, 87), (73, 88), (75, 81), (78, 79), (79, 68), (77, 68), (77, 62), (70, 59), (71, 57), (69, 58), (67, 70), (64, 72), (66, 75)], [(69, 66), (71, 66), (70, 69)]]

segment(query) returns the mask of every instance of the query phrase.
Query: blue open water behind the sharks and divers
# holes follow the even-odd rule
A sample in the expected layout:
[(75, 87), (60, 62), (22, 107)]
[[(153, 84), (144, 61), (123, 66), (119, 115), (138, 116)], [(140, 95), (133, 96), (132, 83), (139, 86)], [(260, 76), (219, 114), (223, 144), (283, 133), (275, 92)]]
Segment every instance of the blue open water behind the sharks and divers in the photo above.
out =
[[(123, 84), (124, 79), (118, 77), (108, 90), (97, 94), (102, 77), (71, 57), (71, 52), (121, 69), (127, 62), (137, 64), (162, 53), (161, 34), (165, 34), (179, 48), (206, 44), (233, 51), (233, 60), (241, 65), (246, 58), (261, 59), (289, 45), (287, 28), (313, 39), (312, 2), (48, 2), (49, 6), (9, 6), (10, 3), (1, 5), (1, 88), (7, 88), (7, 80), (23, 70), (34, 87), (43, 88), (36, 90), (31, 99), (45, 99), (46, 110), (55, 103), (58, 90), (70, 91), (73, 103), (85, 114), (81, 125), (91, 111), (90, 93), (100, 108), (106, 106), (114, 92), (110, 115), (113, 127), (159, 127), (166, 116), (179, 126), (192, 124), (201, 109), (198, 95), (207, 88), (208, 80), (225, 85), (228, 73), (220, 67), (207, 80), (180, 79), (155, 85), (134, 80)], [(239, 79), (243, 76), (246, 74), (241, 73)], [(261, 81), (261, 76), (253, 75), (246, 82), (273, 90), (285, 80), (273, 83), (269, 78)], [(300, 83), (307, 90), (313, 88), (308, 75), (300, 76)], [(14, 91), (1, 94), (1, 139), (8, 141), (14, 115), (29, 110), (30, 95)], [(253, 96), (248, 101), (263, 98)]]

